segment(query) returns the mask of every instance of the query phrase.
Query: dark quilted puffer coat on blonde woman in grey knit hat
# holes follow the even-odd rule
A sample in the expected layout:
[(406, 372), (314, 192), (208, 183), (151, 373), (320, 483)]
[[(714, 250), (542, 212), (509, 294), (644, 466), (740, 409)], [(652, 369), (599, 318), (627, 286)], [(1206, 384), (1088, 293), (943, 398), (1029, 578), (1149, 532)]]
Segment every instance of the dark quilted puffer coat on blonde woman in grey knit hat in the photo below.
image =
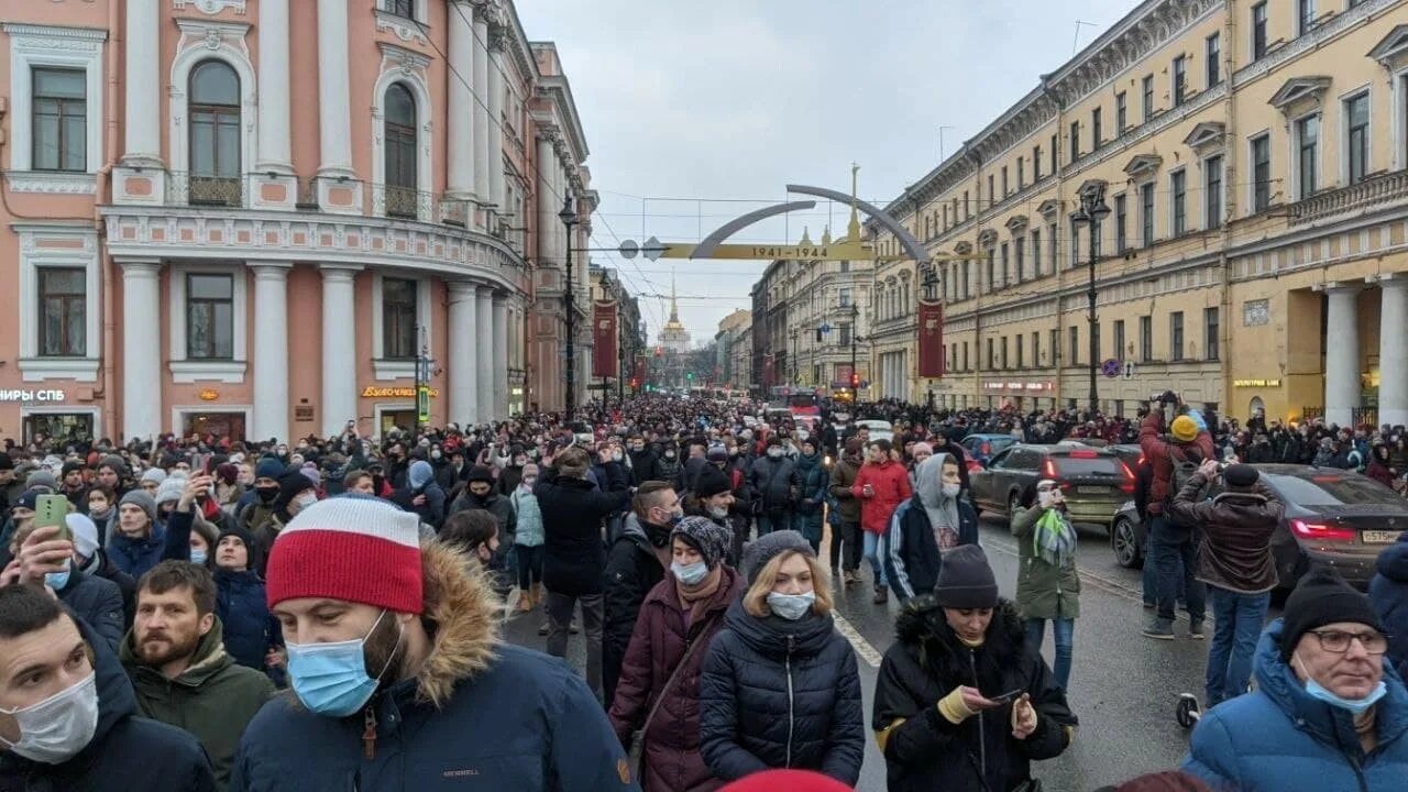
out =
[(800, 768), (855, 786), (865, 743), (856, 652), (835, 620), (758, 619), (735, 602), (700, 678), (700, 750), (714, 775)]

